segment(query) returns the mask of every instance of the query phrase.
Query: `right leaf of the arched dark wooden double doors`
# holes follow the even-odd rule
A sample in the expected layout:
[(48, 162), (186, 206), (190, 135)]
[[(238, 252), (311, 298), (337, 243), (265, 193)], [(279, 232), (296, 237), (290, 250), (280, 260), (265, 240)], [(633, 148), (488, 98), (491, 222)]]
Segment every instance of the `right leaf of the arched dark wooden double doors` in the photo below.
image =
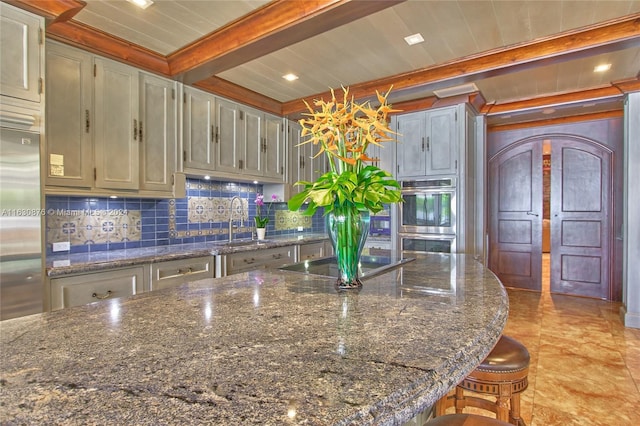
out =
[(611, 156), (595, 145), (553, 141), (551, 291), (609, 293)]

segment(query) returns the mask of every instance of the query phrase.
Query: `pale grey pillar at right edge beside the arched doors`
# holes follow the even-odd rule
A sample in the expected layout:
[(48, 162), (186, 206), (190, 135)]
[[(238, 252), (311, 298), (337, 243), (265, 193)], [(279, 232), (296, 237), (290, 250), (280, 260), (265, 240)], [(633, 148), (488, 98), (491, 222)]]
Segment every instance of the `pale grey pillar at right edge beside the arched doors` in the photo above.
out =
[(640, 328), (640, 92), (627, 95), (624, 137), (622, 321)]

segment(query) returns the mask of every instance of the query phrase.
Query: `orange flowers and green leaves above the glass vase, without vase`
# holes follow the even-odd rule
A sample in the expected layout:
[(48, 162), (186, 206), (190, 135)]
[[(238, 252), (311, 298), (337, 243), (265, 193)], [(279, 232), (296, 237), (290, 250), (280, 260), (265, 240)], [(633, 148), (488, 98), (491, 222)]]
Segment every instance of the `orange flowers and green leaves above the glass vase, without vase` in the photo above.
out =
[(369, 101), (362, 104), (349, 99), (349, 89), (342, 88), (343, 97), (336, 98), (331, 89), (331, 100), (316, 100), (314, 105), (305, 101), (309, 110), (301, 119), (302, 136), (310, 136), (302, 142), (317, 145), (316, 157), (324, 153), (329, 160), (330, 171), (315, 182), (299, 181), (304, 190), (291, 197), (289, 210), (298, 210), (305, 201), (309, 202), (305, 215), (313, 215), (318, 207), (325, 208), (325, 214), (334, 206), (351, 206), (360, 211), (377, 213), (384, 204), (401, 200), (400, 185), (391, 173), (367, 162), (377, 158), (367, 156), (370, 144), (381, 146), (382, 142), (394, 141), (395, 134), (388, 125), (388, 114), (398, 112), (387, 104), (390, 90), (382, 95), (376, 91), (378, 108), (372, 108)]

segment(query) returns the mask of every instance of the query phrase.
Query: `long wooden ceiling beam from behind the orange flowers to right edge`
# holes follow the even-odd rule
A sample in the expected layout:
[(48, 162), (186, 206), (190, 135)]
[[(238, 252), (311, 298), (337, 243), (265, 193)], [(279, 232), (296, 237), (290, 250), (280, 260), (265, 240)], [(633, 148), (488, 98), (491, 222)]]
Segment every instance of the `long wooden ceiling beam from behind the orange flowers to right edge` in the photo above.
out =
[[(354, 84), (350, 93), (357, 99), (370, 97), (376, 90), (392, 94), (410, 94), (416, 88), (430, 90), (473, 82), (482, 78), (506, 75), (541, 65), (551, 65), (640, 45), (640, 14), (535, 40), (506, 48), (482, 52), (449, 63)], [(330, 92), (304, 98), (307, 102), (331, 96)], [(303, 99), (285, 102), (284, 115), (304, 110)]]

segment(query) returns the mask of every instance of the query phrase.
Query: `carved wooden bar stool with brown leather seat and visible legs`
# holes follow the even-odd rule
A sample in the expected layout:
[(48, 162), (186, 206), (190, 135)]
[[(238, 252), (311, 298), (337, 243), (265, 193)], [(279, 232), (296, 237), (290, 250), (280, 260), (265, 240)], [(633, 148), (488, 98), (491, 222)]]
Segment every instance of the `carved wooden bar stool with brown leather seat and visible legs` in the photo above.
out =
[[(520, 393), (529, 385), (529, 351), (517, 340), (501, 336), (498, 343), (480, 365), (456, 386), (453, 395), (446, 395), (436, 403), (435, 416), (455, 406), (456, 413), (465, 407), (481, 408), (496, 414), (503, 422), (525, 426), (520, 417)], [(492, 395), (495, 403), (464, 391)]]

